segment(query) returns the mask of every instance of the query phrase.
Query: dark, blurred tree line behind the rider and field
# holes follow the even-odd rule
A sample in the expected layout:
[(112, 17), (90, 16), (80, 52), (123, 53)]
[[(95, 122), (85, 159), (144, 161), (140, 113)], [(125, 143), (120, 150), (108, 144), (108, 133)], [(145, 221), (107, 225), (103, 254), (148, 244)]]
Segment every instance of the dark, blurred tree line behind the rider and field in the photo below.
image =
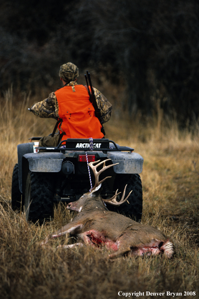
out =
[(199, 116), (198, 16), (197, 0), (4, 0), (1, 89), (53, 87), (71, 60), (125, 86), (130, 114), (150, 114), (158, 97), (183, 124)]

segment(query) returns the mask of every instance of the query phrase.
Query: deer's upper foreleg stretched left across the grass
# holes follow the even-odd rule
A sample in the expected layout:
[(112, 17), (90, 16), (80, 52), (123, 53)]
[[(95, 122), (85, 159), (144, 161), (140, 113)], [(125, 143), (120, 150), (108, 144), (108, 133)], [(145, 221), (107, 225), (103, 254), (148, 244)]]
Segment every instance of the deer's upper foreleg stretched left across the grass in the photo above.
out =
[(46, 239), (41, 242), (41, 245), (47, 244), (50, 239), (58, 238), (67, 234), (76, 235), (81, 232), (82, 228), (83, 224), (74, 225), (73, 223), (69, 223), (63, 226), (60, 230), (48, 235)]

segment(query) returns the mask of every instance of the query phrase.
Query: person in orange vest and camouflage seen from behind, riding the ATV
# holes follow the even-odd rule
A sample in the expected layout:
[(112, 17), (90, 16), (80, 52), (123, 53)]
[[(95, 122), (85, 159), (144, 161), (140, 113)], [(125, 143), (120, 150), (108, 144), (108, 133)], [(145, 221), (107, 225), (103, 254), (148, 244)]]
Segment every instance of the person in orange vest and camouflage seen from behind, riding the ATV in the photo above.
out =
[(103, 138), (102, 124), (109, 121), (112, 105), (107, 98), (93, 88), (96, 104), (101, 112), (100, 121), (90, 103), (88, 90), (77, 84), (78, 68), (71, 62), (61, 65), (59, 77), (63, 87), (51, 92), (48, 98), (34, 104), (30, 111), (41, 118), (54, 118), (58, 123), (59, 134), (42, 137), (39, 146), (57, 146), (67, 138)]

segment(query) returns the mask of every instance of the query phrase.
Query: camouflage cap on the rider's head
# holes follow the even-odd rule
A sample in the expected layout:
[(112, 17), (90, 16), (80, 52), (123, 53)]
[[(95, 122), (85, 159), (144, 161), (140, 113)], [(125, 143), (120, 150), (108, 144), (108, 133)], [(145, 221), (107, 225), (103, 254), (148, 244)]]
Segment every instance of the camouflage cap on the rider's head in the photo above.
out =
[(72, 62), (60, 66), (59, 76), (64, 81), (74, 81), (79, 76), (78, 67)]

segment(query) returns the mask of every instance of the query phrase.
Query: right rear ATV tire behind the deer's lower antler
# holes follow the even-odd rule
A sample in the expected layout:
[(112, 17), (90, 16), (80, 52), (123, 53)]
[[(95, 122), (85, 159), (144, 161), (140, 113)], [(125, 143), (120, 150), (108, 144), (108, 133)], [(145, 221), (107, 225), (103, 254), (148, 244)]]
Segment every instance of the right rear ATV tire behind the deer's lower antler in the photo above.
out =
[[(121, 199), (123, 190), (127, 185), (125, 197), (129, 194), (131, 190), (133, 190), (128, 198), (128, 202), (125, 202), (119, 207), (108, 206), (110, 211), (114, 211), (120, 214), (123, 214), (127, 217), (132, 218), (133, 220), (140, 222), (142, 218), (142, 181), (139, 174), (118, 174), (114, 183), (114, 190), (121, 192), (118, 196)], [(124, 198), (125, 198), (124, 197)]]

